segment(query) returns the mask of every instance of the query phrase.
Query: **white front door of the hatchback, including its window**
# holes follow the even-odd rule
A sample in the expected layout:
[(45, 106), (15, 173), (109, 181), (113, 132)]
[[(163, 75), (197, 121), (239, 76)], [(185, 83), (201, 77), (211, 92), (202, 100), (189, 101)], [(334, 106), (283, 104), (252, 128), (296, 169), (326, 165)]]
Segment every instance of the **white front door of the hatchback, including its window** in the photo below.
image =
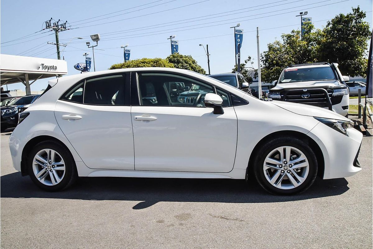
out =
[[(172, 82), (191, 85), (174, 100)], [(139, 73), (140, 106), (132, 106), (135, 169), (229, 172), (233, 168), (237, 118), (228, 93), (169, 73)], [(131, 86), (132, 87), (132, 86)], [(204, 106), (204, 96), (222, 96), (224, 114)]]

